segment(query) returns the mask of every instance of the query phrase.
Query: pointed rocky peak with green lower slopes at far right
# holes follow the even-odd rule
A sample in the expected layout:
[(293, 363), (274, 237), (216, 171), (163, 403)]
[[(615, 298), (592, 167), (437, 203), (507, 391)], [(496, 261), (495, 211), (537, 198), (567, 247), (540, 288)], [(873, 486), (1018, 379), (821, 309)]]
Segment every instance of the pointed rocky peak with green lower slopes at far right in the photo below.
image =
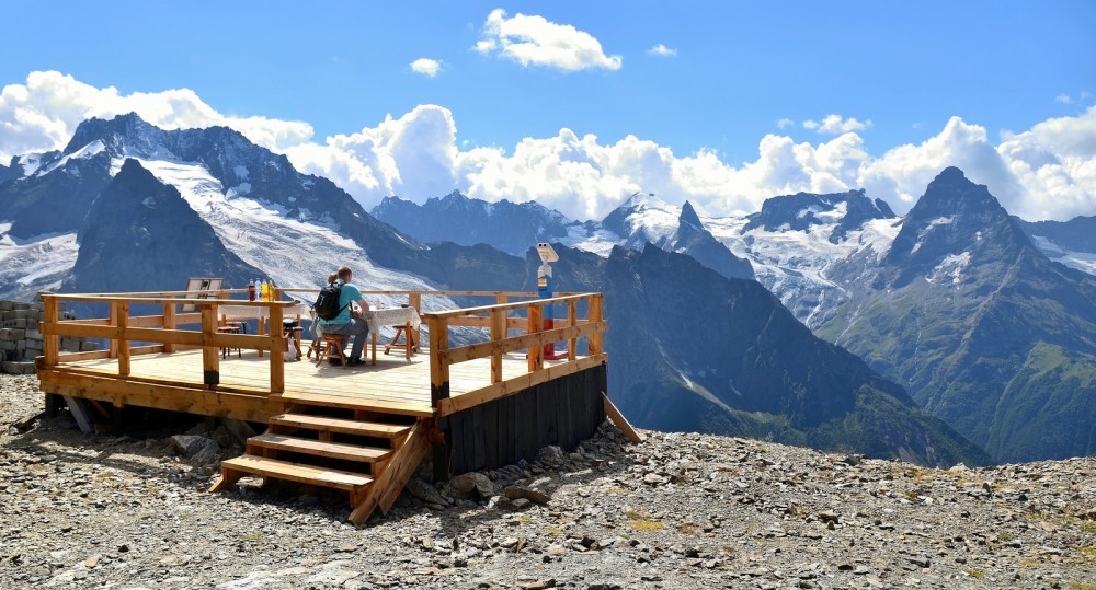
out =
[[(1001, 405), (1006, 390), (1043, 400), (1038, 407), (1057, 395), (1060, 382), (1050, 367), (1020, 370), (1040, 346), (1096, 346), (1096, 277), (1050, 262), (984, 185), (958, 169), (938, 175), (906, 216), (875, 278), (864, 282), (872, 287), (840, 306), (820, 335), (905, 384), (975, 443), (987, 444), (996, 432), (994, 447), (1008, 451), (995, 460), (1096, 452), (1085, 436), (1064, 447), (1052, 447), (1030, 428), (1025, 436), (1024, 423), (1057, 429), (1051, 415), (1020, 417)], [(1096, 371), (1096, 365), (1081, 366)], [(1021, 373), (1028, 380), (1017, 382)], [(1087, 431), (1094, 420), (1096, 408), (1074, 400), (1074, 431)], [(1023, 442), (1009, 432), (1024, 436)]]

